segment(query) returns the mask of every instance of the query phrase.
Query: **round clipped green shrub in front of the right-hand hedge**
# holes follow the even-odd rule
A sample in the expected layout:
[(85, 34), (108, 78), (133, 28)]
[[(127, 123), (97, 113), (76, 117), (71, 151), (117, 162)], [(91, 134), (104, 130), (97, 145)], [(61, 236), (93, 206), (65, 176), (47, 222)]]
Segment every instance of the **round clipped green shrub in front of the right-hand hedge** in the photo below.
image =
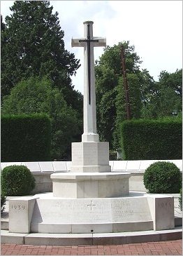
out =
[(174, 163), (159, 161), (145, 170), (143, 181), (149, 193), (180, 193), (182, 176)]

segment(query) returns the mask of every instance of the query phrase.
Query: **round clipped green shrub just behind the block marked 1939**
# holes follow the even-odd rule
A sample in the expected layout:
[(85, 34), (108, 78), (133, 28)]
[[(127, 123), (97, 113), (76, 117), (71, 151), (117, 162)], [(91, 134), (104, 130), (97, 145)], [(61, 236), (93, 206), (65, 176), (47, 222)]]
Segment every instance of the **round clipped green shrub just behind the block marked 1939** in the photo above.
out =
[(26, 166), (7, 166), (1, 172), (1, 193), (5, 196), (27, 196), (35, 179)]

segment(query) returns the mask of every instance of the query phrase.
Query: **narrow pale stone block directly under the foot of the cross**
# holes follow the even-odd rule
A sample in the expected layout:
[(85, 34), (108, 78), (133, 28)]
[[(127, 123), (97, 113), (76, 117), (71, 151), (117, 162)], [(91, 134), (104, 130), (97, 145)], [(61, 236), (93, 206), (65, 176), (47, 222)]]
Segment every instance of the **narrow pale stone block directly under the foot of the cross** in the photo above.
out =
[(110, 172), (108, 142), (73, 142), (71, 172)]

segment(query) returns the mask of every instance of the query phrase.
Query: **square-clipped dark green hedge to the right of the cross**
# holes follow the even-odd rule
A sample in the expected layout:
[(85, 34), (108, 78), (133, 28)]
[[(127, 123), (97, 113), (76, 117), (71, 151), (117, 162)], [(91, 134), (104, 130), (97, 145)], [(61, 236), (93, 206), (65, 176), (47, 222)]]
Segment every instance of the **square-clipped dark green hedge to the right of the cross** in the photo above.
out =
[(130, 120), (121, 125), (123, 160), (182, 159), (182, 120)]

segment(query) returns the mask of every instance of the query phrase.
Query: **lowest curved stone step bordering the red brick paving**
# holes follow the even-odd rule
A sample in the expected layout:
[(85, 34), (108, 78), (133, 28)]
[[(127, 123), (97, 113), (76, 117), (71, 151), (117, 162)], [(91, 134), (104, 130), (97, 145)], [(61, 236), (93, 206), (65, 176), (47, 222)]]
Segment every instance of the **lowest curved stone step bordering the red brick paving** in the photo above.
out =
[(112, 245), (168, 241), (182, 238), (182, 228), (105, 234), (18, 234), (1, 231), (1, 243), (24, 245)]

